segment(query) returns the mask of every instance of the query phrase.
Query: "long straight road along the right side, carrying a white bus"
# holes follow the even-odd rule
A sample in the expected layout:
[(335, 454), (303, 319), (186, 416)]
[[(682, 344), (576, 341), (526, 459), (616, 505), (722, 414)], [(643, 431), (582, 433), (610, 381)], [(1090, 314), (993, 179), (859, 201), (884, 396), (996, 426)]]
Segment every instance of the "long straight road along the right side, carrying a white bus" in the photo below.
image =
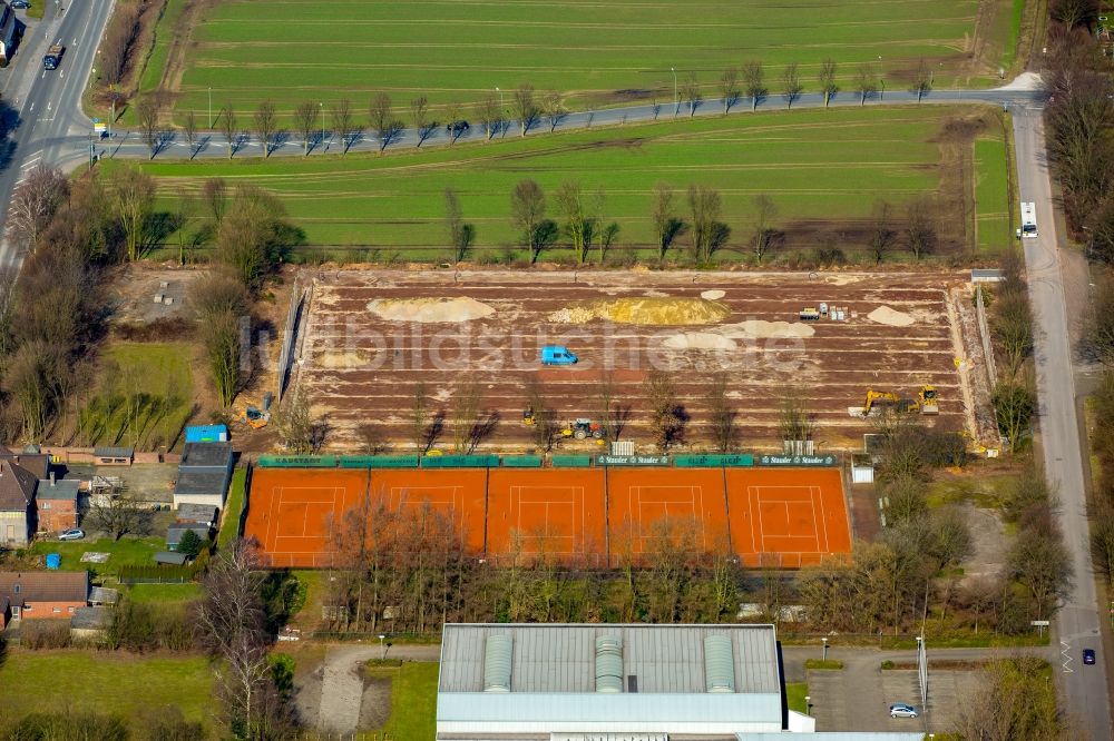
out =
[[(1014, 116), (1014, 141), (1020, 200), (1033, 201), (1038, 236), (1023, 239), (1028, 271), (1039, 397), (1040, 448), (1045, 476), (1059, 497), (1059, 524), (1072, 554), (1071, 593), (1053, 622), (1062, 653), (1054, 668), (1068, 708), (1091, 741), (1111, 739), (1106, 662), (1100, 635), (1095, 575), (1091, 567), (1083, 451), (1075, 406), (1075, 375), (1068, 333), (1059, 237), (1056, 234), (1052, 182), (1039, 110)], [(1094, 649), (1097, 661), (1083, 664), (1083, 649)]]

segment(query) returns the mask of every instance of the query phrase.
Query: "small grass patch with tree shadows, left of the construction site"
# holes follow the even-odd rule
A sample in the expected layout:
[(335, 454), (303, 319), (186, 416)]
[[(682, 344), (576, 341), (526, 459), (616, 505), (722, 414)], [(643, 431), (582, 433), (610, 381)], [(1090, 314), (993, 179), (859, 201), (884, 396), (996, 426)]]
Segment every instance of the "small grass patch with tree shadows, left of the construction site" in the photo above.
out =
[(192, 354), (184, 343), (108, 345), (100, 359), (98, 393), (81, 411), (78, 438), (87, 445), (144, 451), (180, 445), (194, 405)]

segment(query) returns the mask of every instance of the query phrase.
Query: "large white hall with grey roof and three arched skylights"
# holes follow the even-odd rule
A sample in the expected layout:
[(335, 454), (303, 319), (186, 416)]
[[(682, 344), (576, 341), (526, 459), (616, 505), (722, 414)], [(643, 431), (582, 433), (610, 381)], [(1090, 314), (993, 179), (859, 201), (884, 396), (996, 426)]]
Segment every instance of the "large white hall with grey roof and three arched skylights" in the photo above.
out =
[(446, 625), (437, 739), (765, 741), (768, 733), (812, 733), (812, 718), (786, 710), (781, 678), (773, 625)]

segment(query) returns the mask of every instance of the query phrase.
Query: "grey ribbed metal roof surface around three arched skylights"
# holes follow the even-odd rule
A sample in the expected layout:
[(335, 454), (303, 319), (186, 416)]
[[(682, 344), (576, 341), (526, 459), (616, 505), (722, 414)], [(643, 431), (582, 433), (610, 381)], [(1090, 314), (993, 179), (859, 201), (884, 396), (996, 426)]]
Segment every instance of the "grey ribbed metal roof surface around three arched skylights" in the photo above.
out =
[(737, 693), (781, 691), (773, 625), (446, 625), (439, 692), (483, 690), (485, 644), (510, 635), (511, 694), (595, 692), (596, 638), (623, 640), (623, 674), (638, 693), (704, 694), (704, 638), (731, 639)]

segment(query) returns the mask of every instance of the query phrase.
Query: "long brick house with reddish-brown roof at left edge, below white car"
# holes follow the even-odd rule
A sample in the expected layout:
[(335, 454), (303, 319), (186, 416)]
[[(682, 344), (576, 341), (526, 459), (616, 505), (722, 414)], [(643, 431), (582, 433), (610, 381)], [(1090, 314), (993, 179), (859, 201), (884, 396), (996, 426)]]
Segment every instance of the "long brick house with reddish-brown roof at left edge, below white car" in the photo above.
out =
[(25, 618), (71, 618), (88, 600), (87, 571), (0, 571), (0, 630)]

